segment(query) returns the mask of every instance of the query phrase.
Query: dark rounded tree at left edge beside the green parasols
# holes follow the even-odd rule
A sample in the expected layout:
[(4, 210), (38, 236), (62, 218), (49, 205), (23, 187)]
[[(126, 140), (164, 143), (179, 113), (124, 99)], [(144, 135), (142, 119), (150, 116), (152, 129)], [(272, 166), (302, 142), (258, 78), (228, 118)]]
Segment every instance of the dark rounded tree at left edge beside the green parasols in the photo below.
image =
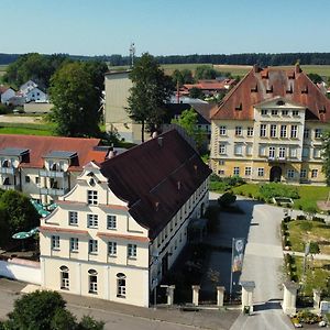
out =
[(0, 195), (0, 238), (6, 244), (19, 231), (29, 231), (40, 224), (40, 216), (30, 198), (15, 190)]

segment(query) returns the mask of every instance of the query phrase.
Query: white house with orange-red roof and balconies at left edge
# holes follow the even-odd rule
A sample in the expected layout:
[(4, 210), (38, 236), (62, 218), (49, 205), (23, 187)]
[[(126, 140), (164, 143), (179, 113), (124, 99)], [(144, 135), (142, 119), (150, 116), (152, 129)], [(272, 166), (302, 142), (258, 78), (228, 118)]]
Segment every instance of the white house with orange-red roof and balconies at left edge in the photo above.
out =
[(106, 160), (99, 139), (0, 135), (0, 188), (51, 204), (68, 193), (82, 165)]

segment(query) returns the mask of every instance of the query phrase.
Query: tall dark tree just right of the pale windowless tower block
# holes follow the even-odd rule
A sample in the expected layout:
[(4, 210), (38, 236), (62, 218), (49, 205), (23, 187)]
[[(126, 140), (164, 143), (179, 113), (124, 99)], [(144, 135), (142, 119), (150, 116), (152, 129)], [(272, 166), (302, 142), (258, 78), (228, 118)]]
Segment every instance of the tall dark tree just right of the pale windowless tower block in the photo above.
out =
[(144, 141), (145, 129), (157, 130), (164, 121), (165, 101), (173, 89), (170, 77), (165, 76), (158, 63), (148, 53), (136, 61), (130, 73), (133, 87), (128, 98), (128, 113), (141, 123), (141, 140)]

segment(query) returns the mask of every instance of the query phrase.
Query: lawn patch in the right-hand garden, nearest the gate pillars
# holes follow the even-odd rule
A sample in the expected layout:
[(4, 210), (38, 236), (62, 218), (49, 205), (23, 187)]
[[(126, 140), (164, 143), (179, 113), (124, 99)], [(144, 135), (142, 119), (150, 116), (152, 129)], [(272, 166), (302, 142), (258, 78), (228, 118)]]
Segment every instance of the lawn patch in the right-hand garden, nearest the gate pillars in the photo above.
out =
[[(304, 258), (296, 256), (298, 282), (301, 282), (302, 279), (302, 264), (304, 264)], [(302, 287), (305, 295), (312, 296), (314, 288), (315, 289), (326, 288), (327, 278), (329, 276), (330, 276), (329, 261), (314, 260), (311, 262), (309, 260), (307, 262), (307, 267), (306, 267), (306, 282)]]

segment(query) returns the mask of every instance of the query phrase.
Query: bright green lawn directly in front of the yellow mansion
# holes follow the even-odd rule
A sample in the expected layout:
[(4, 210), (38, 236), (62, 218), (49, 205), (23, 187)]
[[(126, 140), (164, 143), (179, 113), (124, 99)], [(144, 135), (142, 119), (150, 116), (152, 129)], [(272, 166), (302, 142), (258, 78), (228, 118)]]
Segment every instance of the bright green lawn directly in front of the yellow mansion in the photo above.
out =
[[(321, 186), (289, 186), (288, 187), (297, 188), (300, 198), (294, 199), (294, 208), (308, 209), (309, 207), (317, 208), (318, 200), (324, 200), (328, 197), (329, 187)], [(254, 198), (262, 197), (258, 193), (260, 184), (244, 184), (240, 187), (233, 188), (234, 194), (252, 196)]]

